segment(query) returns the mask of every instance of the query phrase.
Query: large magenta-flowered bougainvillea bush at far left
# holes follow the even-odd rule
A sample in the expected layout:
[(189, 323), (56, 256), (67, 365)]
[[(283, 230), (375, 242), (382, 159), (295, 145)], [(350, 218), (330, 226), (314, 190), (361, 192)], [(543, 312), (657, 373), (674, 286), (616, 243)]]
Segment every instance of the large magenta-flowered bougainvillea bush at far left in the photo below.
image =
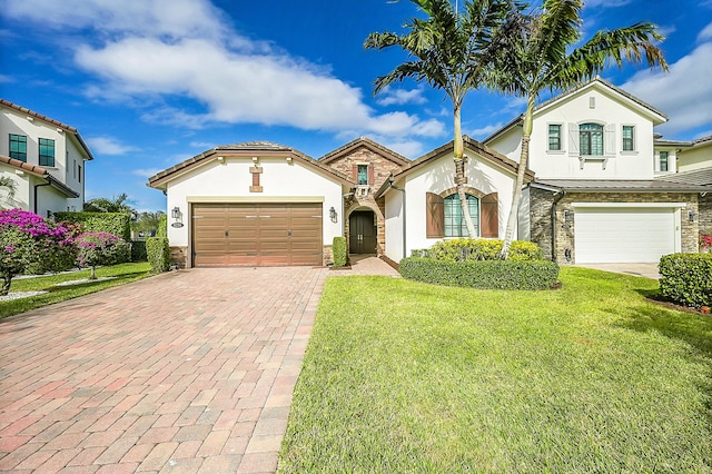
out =
[(22, 209), (0, 209), (0, 296), (24, 273), (61, 271), (75, 261), (67, 227)]

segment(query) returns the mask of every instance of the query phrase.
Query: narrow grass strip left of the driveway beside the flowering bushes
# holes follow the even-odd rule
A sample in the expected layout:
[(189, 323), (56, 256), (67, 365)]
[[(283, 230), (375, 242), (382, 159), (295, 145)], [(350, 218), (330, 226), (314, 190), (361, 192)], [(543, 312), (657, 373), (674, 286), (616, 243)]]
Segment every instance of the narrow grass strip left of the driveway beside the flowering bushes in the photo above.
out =
[(0, 302), (0, 318), (24, 313), (30, 309), (47, 306), (52, 303), (88, 295), (112, 286), (125, 285), (150, 276), (150, 265), (146, 261), (113, 265), (110, 267), (97, 268), (97, 278), (115, 277), (112, 279), (82, 283), (69, 286), (56, 286), (62, 282), (72, 282), (89, 277), (90, 270), (75, 271), (70, 274), (58, 274), (33, 278), (13, 279), (10, 286), (12, 292), (48, 292), (42, 295), (29, 298), (10, 299)]

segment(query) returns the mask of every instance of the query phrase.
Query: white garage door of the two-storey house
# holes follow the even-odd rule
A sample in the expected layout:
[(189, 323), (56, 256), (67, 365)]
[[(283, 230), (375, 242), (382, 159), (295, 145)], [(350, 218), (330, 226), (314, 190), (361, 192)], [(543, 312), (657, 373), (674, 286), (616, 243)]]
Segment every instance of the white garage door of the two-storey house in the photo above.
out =
[(653, 263), (675, 251), (671, 208), (577, 208), (574, 214), (577, 264)]

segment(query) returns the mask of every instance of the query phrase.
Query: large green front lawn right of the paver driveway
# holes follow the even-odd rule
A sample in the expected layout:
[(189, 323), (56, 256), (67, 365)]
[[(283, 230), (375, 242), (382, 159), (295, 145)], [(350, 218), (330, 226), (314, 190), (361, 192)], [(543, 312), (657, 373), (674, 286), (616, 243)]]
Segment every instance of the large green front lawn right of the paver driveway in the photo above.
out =
[(280, 472), (712, 472), (712, 318), (657, 283), (329, 278)]

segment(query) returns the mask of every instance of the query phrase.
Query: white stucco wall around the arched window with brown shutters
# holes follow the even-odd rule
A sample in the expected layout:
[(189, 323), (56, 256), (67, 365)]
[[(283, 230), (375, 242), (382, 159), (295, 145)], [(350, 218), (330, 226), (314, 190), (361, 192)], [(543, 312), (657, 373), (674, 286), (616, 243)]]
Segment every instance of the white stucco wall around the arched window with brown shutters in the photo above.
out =
[[(516, 176), (478, 157), (472, 150), (466, 149), (465, 155), (469, 157), (465, 169), (468, 179), (467, 186), (482, 191), (484, 195), (497, 192), (500, 237), (503, 237), (512, 206), (512, 195)], [(449, 154), (433, 162), (423, 165), (421, 169), (413, 171), (411, 175), (407, 175), (405, 179), (402, 179), (402, 182), (396, 182), (397, 186), (406, 189), (407, 256), (409, 256), (414, 249), (428, 248), (433, 244), (442, 240), (426, 237), (426, 192), (439, 194), (446, 189), (454, 188), (454, 176), (455, 164), (453, 155)], [(393, 191), (388, 194), (388, 198), (392, 197), (394, 197)], [(389, 254), (388, 256), (390, 257)]]

